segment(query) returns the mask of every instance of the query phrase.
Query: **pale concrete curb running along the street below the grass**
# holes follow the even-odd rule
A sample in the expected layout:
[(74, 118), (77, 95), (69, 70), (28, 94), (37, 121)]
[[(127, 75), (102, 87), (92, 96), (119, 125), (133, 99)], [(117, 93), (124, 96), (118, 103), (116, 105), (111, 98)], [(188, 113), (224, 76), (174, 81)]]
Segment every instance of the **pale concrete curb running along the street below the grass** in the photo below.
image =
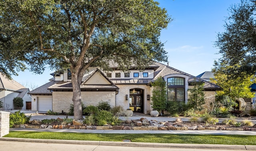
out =
[(115, 142), (115, 141), (76, 141), (76, 140), (58, 140), (58, 139), (24, 139), (24, 138), (11, 138), (11, 137), (0, 137), (0, 141), (23, 141), (23, 142), (36, 142), (36, 143), (60, 143), (60, 144), (77, 144), (77, 145), (125, 146), (125, 147), (256, 150), (255, 145), (136, 143), (136, 142)]

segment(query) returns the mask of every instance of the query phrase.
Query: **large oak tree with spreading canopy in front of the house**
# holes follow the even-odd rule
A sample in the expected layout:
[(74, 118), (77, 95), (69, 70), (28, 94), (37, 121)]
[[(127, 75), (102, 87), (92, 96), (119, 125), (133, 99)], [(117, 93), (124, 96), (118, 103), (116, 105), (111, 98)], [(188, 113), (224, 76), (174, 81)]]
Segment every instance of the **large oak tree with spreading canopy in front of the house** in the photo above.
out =
[(171, 19), (153, 0), (3, 0), (0, 13), (7, 41), (1, 51), (17, 54), (11, 58), (18, 69), (22, 63), (36, 73), (46, 65), (70, 69), (75, 119), (82, 119), (80, 84), (88, 67), (108, 70), (114, 61), (123, 71), (143, 70), (152, 60), (167, 61), (159, 36)]

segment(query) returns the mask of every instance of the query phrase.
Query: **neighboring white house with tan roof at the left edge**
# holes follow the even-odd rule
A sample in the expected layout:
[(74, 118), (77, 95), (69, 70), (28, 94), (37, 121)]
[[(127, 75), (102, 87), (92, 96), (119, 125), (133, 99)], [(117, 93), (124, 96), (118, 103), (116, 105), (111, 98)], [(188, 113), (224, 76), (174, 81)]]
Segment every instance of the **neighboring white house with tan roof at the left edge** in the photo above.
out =
[(3, 102), (3, 108), (0, 110), (13, 110), (13, 99), (20, 97), (23, 99), (22, 110), (31, 110), (31, 96), (28, 94), (29, 89), (22, 86), (15, 80), (9, 80), (0, 74), (0, 101)]

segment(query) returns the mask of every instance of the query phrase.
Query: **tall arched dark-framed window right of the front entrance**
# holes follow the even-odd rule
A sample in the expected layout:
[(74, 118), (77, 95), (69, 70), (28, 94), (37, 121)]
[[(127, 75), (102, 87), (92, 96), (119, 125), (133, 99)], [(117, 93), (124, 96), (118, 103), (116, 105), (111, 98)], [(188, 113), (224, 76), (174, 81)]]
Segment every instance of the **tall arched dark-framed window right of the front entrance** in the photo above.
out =
[(167, 94), (168, 101), (184, 101), (185, 100), (185, 78), (172, 77), (167, 78)]

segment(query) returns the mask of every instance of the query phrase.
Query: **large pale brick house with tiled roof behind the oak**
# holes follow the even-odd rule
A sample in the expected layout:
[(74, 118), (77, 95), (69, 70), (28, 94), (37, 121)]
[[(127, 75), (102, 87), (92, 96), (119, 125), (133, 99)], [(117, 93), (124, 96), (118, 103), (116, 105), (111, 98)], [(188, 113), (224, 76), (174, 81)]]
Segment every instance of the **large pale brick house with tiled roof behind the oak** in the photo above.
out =
[[(158, 77), (167, 82), (168, 100), (188, 101), (188, 88), (195, 80), (202, 80), (168, 65), (154, 62), (144, 71), (131, 67), (123, 72), (118, 65), (110, 63), (112, 72), (90, 68), (82, 79), (81, 97), (86, 106), (108, 102), (110, 106), (130, 108), (134, 112), (149, 114), (152, 111), (151, 98), (154, 82)], [(53, 73), (50, 82), (29, 92), (32, 97), (33, 111), (68, 112), (72, 102), (72, 81), (69, 71)], [(203, 80), (204, 81), (204, 80)], [(215, 99), (219, 86), (204, 81), (204, 90), (208, 99)]]

